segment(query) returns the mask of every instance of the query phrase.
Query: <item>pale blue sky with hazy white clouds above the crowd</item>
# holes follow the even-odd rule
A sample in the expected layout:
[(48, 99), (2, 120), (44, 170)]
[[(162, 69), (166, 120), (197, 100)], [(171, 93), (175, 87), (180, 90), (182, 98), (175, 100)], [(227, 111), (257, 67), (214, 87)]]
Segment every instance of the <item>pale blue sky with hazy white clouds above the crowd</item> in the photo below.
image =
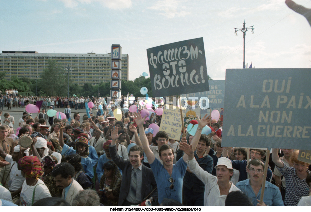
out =
[[(311, 8), (310, 0), (296, 3)], [(311, 27), (285, 0), (0, 0), (0, 51), (129, 54), (129, 80), (149, 73), (147, 48), (203, 37), (207, 73), (227, 68), (311, 68)]]

